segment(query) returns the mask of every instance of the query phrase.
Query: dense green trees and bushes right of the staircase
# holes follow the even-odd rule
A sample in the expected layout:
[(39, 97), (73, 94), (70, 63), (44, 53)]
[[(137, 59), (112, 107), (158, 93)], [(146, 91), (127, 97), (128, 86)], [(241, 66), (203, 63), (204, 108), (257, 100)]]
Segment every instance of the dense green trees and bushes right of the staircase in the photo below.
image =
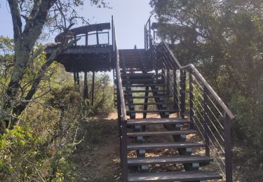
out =
[[(262, 159), (263, 2), (151, 0), (159, 36), (194, 63), (236, 115), (236, 144)], [(245, 150), (244, 150), (245, 151)], [(261, 160), (262, 162), (262, 160)]]

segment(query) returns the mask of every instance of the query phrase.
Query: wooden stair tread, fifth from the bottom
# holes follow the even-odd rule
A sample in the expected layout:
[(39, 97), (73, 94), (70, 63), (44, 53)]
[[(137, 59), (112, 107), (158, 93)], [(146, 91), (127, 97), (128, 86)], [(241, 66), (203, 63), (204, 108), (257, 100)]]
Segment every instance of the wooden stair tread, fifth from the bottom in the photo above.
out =
[(181, 118), (147, 118), (128, 120), (127, 125), (164, 125), (164, 124), (185, 124), (190, 123), (188, 120)]

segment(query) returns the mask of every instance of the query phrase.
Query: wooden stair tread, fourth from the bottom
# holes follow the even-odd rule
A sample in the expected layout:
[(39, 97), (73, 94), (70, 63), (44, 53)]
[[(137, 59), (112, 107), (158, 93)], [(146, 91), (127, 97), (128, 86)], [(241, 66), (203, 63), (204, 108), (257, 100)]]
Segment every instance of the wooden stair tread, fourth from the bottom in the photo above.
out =
[(196, 130), (174, 130), (174, 131), (163, 131), (163, 132), (130, 132), (127, 134), (128, 137), (148, 137), (148, 136), (167, 136), (167, 135), (187, 135), (196, 134)]

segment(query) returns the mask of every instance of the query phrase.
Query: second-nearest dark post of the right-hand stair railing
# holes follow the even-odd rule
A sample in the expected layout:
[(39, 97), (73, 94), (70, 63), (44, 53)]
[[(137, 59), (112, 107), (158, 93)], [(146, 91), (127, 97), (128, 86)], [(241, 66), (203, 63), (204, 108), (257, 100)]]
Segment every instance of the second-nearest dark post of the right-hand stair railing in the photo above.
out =
[(208, 135), (208, 89), (203, 87), (203, 114), (204, 114), (204, 127), (205, 127), (205, 156), (210, 157), (210, 140)]

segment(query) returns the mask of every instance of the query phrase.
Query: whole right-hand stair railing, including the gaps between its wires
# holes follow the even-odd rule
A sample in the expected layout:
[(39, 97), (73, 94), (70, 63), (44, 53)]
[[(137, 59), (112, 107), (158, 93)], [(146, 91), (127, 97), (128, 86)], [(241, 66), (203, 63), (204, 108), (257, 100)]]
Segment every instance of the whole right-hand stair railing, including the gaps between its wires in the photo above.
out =
[[(145, 49), (152, 64), (173, 96), (181, 118), (189, 118), (191, 129), (199, 131), (206, 156), (212, 155), (222, 176), (232, 181), (231, 121), (233, 113), (193, 64), (182, 66), (165, 41), (157, 44), (151, 36), (151, 20), (144, 27)], [(156, 52), (156, 53), (154, 53)]]

